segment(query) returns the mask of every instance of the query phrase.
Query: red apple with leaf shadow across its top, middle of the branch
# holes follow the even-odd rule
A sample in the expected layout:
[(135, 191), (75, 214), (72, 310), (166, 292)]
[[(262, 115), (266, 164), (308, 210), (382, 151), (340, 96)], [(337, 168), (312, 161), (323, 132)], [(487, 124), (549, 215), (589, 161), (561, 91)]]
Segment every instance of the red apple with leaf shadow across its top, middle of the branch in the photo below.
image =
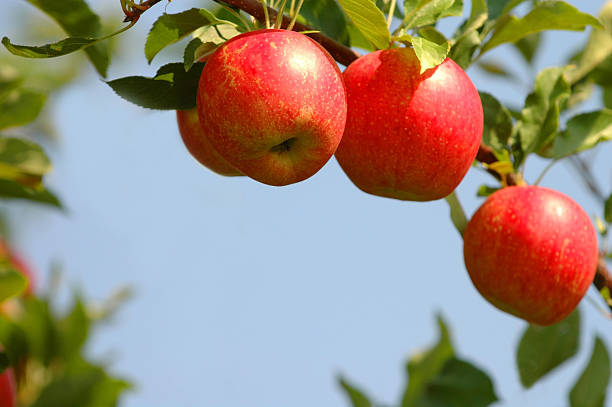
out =
[(440, 199), (476, 158), (483, 111), (474, 84), (448, 58), (419, 71), (412, 48), (372, 52), (344, 71), (348, 116), (336, 159), (364, 192)]

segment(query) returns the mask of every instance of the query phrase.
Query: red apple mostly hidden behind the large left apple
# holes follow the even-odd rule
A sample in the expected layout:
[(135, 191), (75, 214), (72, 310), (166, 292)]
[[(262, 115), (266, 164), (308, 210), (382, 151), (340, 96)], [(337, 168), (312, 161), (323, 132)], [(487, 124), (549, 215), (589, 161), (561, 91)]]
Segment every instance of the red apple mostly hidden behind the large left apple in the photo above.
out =
[(189, 153), (200, 164), (220, 175), (235, 177), (243, 175), (214, 149), (205, 129), (200, 126), (200, 119), (196, 109), (177, 110), (176, 121), (183, 144)]

